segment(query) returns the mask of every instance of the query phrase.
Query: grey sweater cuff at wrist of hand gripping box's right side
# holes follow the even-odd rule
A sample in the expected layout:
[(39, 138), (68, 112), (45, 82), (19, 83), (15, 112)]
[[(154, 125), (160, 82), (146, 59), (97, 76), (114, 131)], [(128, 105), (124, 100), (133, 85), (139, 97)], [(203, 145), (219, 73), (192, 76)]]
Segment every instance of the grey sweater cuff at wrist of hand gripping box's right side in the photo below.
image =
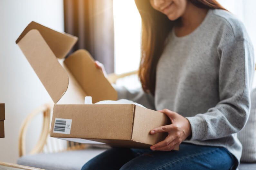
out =
[(186, 117), (191, 125), (192, 136), (189, 140), (202, 140), (206, 134), (206, 122), (200, 116)]

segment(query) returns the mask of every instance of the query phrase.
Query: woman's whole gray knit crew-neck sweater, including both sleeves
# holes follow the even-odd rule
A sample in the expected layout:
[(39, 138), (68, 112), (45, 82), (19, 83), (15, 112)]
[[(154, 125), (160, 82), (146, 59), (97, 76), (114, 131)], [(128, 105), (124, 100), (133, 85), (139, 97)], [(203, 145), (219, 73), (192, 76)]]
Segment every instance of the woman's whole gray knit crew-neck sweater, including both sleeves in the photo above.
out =
[(224, 10), (209, 10), (200, 26), (184, 37), (174, 29), (157, 64), (155, 97), (142, 89), (115, 87), (119, 98), (147, 108), (167, 108), (186, 117), (189, 142), (222, 146), (239, 161), (237, 139), (249, 116), (254, 55), (241, 23)]

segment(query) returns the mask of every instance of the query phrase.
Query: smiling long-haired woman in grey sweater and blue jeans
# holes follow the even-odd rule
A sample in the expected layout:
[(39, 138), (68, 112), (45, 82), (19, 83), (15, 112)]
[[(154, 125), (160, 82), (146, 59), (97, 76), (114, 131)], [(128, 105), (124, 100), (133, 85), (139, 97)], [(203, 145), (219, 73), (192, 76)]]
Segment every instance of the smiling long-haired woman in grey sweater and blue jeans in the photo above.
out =
[[(236, 169), (249, 116), (253, 47), (215, 0), (136, 0), (142, 18), (142, 90), (115, 87), (166, 114), (168, 136), (150, 149), (112, 148), (82, 169)], [(96, 65), (104, 71), (101, 64)], [(180, 145), (180, 150), (173, 150)]]

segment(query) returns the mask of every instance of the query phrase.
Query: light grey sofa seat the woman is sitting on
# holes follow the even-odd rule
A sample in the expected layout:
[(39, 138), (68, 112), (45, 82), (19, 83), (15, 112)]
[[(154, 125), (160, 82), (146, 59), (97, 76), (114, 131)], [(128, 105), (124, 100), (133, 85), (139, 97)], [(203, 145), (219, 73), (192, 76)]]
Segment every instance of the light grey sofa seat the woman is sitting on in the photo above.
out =
[[(19, 165), (32, 166), (47, 170), (81, 170), (91, 158), (106, 149), (90, 148), (50, 154), (26, 155), (18, 159)], [(256, 164), (241, 163), (239, 170), (255, 170)]]

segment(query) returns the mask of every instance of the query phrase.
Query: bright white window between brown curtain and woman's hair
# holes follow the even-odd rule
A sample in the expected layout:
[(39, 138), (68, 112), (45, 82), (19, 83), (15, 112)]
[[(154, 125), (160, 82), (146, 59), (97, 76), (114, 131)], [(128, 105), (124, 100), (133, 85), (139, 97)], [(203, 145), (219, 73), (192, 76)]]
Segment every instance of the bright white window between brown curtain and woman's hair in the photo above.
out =
[(114, 0), (115, 73), (138, 69), (141, 18), (134, 0)]

